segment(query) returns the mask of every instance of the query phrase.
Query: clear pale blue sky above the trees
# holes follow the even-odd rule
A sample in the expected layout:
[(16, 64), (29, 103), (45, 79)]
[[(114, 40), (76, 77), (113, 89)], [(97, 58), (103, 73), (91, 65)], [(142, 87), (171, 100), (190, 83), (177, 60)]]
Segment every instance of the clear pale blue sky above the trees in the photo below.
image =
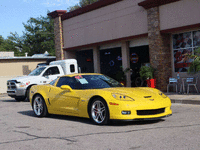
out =
[(0, 35), (6, 39), (10, 32), (23, 35), (23, 22), (33, 17), (47, 16), (47, 11), (67, 10), (79, 0), (0, 0)]

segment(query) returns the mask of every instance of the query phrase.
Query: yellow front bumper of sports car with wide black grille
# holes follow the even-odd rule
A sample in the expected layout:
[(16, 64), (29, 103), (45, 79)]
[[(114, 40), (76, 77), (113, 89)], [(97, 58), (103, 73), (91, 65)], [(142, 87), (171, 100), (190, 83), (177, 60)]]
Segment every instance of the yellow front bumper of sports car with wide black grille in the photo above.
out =
[(157, 120), (172, 115), (171, 101), (167, 98), (159, 103), (119, 102), (118, 105), (109, 105), (109, 113), (111, 120)]

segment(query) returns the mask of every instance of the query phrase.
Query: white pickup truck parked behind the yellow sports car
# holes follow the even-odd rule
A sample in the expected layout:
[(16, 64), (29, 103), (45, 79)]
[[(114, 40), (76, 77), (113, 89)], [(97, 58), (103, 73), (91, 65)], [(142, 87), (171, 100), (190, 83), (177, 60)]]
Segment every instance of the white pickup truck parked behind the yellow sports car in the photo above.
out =
[(36, 68), (28, 76), (8, 80), (7, 94), (16, 101), (24, 101), (29, 97), (31, 86), (48, 84), (59, 76), (72, 73), (78, 73), (76, 59), (52, 61), (48, 66)]

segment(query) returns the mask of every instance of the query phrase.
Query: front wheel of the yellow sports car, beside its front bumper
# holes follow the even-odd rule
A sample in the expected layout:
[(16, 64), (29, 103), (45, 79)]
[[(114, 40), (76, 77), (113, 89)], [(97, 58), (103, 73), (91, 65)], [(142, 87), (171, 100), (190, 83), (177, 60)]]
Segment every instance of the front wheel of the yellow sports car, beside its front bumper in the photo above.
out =
[(107, 104), (101, 98), (96, 98), (90, 105), (90, 119), (98, 125), (107, 124), (109, 121), (109, 111)]

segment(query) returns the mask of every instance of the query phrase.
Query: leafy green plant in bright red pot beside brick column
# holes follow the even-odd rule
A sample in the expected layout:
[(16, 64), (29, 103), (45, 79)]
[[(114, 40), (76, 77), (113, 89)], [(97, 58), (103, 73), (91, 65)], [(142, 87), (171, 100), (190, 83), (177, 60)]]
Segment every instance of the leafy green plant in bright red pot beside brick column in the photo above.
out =
[(155, 69), (152, 66), (142, 66), (140, 68), (140, 76), (147, 81), (148, 87), (156, 87), (156, 79), (154, 79)]

